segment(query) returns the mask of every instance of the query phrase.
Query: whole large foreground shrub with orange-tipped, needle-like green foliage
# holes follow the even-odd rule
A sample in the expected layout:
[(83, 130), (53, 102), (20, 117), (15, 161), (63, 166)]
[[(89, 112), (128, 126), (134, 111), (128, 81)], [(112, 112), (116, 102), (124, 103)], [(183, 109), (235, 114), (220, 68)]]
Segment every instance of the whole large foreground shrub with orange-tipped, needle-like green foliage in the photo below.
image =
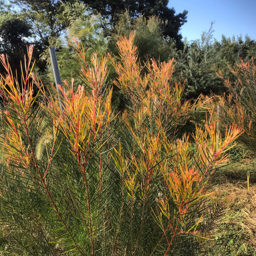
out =
[[(63, 112), (31, 73), (32, 47), (21, 87), (1, 55), (1, 252), (195, 255), (212, 239), (222, 207), (207, 203), (210, 187), (241, 130), (233, 124), (219, 138), (207, 122), (177, 139), (179, 123), (202, 103), (182, 100), (173, 60), (142, 66), (133, 38), (120, 37), (117, 58), (93, 54), (90, 68), (74, 41), (90, 90), (64, 81)], [(112, 111), (108, 61), (128, 103), (123, 114)]]

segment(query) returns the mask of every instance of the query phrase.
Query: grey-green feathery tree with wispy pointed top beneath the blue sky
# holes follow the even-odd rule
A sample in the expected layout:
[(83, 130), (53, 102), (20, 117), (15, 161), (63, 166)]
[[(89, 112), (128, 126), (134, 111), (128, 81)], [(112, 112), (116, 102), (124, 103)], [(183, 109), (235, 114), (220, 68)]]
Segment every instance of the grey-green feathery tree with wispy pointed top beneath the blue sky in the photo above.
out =
[(215, 74), (222, 59), (214, 48), (212, 25), (202, 33), (201, 39), (186, 43), (184, 49), (173, 56), (177, 60), (176, 79), (185, 79), (186, 98), (196, 99), (200, 94), (219, 94), (223, 91), (222, 81)]

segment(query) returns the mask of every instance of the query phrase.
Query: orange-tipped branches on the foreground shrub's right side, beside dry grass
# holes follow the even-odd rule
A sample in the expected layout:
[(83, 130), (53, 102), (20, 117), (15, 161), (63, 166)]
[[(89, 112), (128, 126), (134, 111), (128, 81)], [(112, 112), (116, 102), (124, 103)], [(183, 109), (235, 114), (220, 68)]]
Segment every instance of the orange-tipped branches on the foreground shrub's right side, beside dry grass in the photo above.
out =
[[(196, 152), (192, 158), (189, 157), (189, 136), (183, 136), (182, 140), (172, 144), (172, 167), (169, 167), (170, 163), (167, 161), (162, 163), (164, 167), (161, 170), (169, 196), (158, 199), (160, 214), (156, 214), (164, 233), (172, 230), (172, 239), (182, 233), (197, 234), (196, 228), (201, 218), (194, 226), (187, 227), (187, 213), (203, 197), (212, 196), (213, 192), (208, 191), (212, 175), (217, 167), (228, 161), (226, 148), (240, 133), (241, 129), (233, 125), (227, 130), (223, 141), (215, 132), (215, 124), (206, 124), (205, 129), (197, 127), (196, 133), (192, 135), (196, 142)], [(170, 210), (170, 199), (177, 206), (175, 215)], [(166, 227), (162, 225), (162, 215), (169, 221)], [(168, 244), (171, 245), (171, 242), (168, 241)]]

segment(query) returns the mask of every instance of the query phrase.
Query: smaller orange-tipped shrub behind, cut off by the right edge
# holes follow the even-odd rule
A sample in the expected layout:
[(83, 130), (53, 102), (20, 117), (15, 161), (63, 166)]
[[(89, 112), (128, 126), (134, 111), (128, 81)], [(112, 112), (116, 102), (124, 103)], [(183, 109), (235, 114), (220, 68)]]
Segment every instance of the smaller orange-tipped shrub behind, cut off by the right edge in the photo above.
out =
[(233, 79), (224, 78), (221, 70), (217, 75), (223, 79), (229, 94), (218, 96), (216, 103), (220, 105), (221, 122), (230, 125), (235, 122), (237, 126), (244, 130), (239, 137), (239, 141), (255, 151), (255, 92), (256, 92), (256, 64), (252, 57), (250, 61), (244, 62), (242, 59), (236, 67), (229, 67)]

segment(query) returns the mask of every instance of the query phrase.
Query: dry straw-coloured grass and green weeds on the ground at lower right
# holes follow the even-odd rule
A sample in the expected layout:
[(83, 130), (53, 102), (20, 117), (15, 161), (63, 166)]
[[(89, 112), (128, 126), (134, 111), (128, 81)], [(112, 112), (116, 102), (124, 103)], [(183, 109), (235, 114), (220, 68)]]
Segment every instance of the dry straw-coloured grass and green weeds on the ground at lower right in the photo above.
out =
[(230, 182), (222, 179), (214, 187), (218, 198), (229, 197), (231, 204), (217, 231), (216, 243), (209, 255), (255, 256), (256, 255), (256, 184)]

